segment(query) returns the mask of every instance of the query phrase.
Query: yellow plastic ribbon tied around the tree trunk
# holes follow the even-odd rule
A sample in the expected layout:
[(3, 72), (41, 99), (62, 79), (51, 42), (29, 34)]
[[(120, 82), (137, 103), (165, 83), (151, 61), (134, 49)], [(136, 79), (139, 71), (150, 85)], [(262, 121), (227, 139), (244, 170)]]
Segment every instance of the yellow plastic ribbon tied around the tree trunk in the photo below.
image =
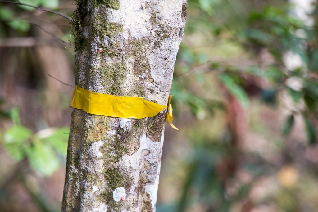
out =
[[(154, 117), (164, 108), (168, 107), (167, 119), (171, 124), (172, 107), (170, 101), (171, 96), (169, 97), (169, 106), (159, 105), (144, 100), (143, 97), (114, 96), (96, 93), (75, 85), (71, 106), (95, 115), (128, 119)], [(171, 124), (171, 127), (178, 129), (173, 124)]]

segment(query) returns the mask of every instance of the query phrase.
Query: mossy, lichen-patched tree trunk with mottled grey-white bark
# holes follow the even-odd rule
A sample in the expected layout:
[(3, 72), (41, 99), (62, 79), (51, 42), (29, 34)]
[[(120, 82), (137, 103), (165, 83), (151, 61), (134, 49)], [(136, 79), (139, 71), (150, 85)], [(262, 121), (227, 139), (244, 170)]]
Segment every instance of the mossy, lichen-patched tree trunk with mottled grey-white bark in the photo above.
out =
[[(186, 0), (76, 3), (76, 85), (167, 105)], [(166, 112), (125, 119), (74, 109), (62, 211), (155, 211)]]

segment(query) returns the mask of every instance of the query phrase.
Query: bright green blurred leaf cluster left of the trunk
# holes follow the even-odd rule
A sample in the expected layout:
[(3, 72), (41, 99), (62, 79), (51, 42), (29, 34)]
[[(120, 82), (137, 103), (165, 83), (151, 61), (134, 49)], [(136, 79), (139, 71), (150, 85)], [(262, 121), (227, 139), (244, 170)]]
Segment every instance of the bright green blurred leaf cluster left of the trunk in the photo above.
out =
[(50, 176), (65, 162), (68, 128), (45, 128), (33, 134), (20, 124), (19, 110), (10, 110), (13, 126), (1, 136), (3, 147), (14, 160), (28, 160), (38, 174)]

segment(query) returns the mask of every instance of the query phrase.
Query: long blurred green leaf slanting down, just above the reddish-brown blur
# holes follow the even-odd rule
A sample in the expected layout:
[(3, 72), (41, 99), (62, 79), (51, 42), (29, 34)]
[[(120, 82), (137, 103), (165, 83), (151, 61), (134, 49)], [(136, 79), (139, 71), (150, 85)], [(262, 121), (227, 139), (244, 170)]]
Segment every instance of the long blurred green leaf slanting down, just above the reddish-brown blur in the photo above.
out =
[(250, 105), (246, 92), (242, 87), (235, 83), (232, 77), (227, 74), (221, 74), (219, 79), (243, 107), (247, 108)]

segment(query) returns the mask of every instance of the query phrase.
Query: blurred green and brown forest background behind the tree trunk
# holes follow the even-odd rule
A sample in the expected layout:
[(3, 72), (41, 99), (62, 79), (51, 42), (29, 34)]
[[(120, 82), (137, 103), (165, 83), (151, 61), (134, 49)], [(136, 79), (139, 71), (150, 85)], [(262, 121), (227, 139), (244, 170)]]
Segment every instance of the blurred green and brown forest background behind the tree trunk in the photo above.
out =
[[(166, 126), (157, 212), (318, 211), (317, 14), (316, 1), (188, 0), (171, 90), (179, 131)], [(0, 1), (1, 211), (60, 211), (69, 23)]]

